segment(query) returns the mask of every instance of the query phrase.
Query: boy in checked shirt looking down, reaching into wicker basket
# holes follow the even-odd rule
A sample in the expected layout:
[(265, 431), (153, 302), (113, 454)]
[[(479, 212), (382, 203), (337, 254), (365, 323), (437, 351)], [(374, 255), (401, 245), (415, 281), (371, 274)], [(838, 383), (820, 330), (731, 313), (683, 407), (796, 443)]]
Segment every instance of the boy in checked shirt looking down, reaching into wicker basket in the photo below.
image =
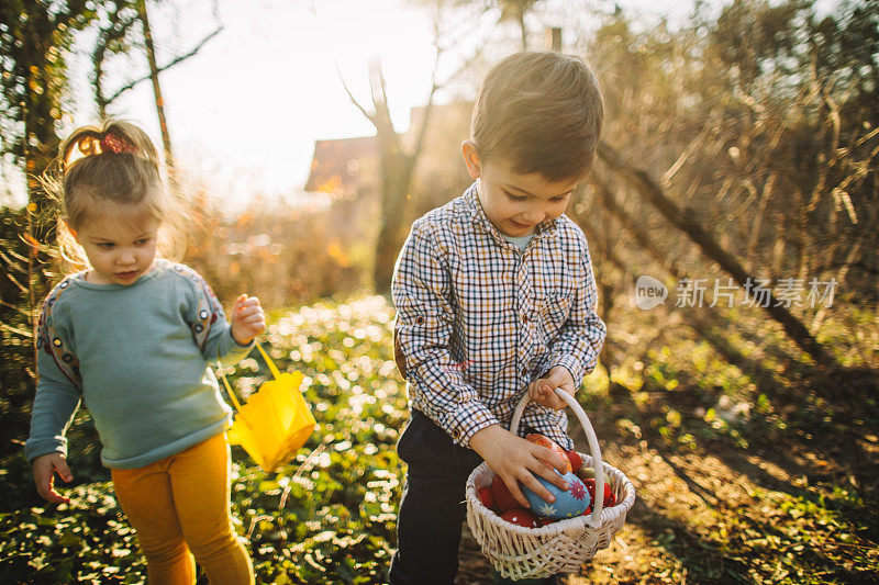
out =
[(409, 470), (394, 585), (454, 581), (465, 483), (482, 460), (523, 507), (520, 483), (553, 500), (534, 474), (567, 488), (550, 468), (563, 469), (559, 455), (507, 429), (527, 389), (523, 431), (574, 447), (553, 390), (575, 393), (605, 328), (586, 238), (563, 213), (594, 160), (602, 115), (581, 59), (502, 60), (461, 145), (476, 182), (418, 220), (400, 252), (394, 357), (412, 413), (398, 443)]

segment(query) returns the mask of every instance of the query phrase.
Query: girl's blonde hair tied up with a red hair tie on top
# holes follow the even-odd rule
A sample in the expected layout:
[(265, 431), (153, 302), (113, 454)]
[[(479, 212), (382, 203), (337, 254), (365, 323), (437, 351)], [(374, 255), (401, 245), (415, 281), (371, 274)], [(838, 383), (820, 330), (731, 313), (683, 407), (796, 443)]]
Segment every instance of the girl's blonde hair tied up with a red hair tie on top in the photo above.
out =
[(58, 247), (75, 268), (88, 266), (73, 233), (107, 213), (108, 203), (123, 217), (162, 224), (159, 250), (179, 257), (186, 246), (183, 206), (166, 191), (158, 153), (149, 136), (130, 122), (111, 120), (82, 126), (64, 142), (55, 177), (44, 180), (60, 203)]

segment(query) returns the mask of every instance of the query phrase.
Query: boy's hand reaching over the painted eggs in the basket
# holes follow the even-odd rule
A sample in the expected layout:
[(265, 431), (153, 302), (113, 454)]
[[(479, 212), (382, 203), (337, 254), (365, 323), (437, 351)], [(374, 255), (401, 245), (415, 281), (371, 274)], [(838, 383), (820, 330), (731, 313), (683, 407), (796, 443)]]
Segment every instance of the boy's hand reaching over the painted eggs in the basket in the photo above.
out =
[[(524, 508), (528, 508), (531, 505), (520, 490), (520, 483), (526, 485), (544, 500), (550, 504), (555, 500), (549, 491), (534, 476), (535, 473), (559, 490), (568, 488), (568, 483), (553, 471), (554, 466), (559, 473), (565, 473), (566, 465), (561, 455), (546, 447), (518, 437), (501, 428), (500, 425), (491, 425), (476, 431), (470, 437), (470, 447), (482, 455), (494, 473), (500, 475), (515, 500)], [(549, 466), (550, 464), (553, 466)]]

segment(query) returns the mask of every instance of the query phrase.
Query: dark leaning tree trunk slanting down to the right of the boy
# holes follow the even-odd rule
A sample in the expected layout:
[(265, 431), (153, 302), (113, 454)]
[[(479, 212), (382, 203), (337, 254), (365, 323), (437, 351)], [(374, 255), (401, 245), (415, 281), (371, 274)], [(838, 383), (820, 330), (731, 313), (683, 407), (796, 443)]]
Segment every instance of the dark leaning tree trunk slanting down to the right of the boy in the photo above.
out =
[[(733, 279), (746, 293), (748, 286), (755, 279), (748, 274), (738, 260), (728, 254), (706, 233), (697, 222), (689, 210), (681, 210), (668, 199), (659, 184), (654, 181), (646, 171), (634, 168), (625, 164), (621, 156), (603, 142), (599, 143), (598, 154), (601, 160), (613, 172), (619, 175), (626, 183), (637, 190), (663, 216), (675, 227), (687, 234), (697, 245), (702, 254), (715, 261), (723, 270), (730, 273)], [(817, 363), (822, 365), (835, 365), (836, 361), (827, 353), (824, 347), (809, 333), (809, 329), (786, 307), (778, 305), (775, 296), (769, 292), (764, 310), (769, 316), (778, 322), (788, 336)]]

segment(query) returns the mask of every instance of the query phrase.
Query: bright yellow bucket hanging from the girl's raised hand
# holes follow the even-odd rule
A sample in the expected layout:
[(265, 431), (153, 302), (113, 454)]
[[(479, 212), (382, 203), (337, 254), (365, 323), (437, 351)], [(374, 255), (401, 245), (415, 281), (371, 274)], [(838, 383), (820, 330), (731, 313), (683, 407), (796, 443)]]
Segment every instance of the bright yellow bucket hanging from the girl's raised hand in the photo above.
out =
[(264, 471), (270, 472), (305, 445), (315, 421), (299, 390), (302, 374), (279, 372), (259, 344), (256, 347), (275, 380), (264, 382), (242, 406), (223, 373), (223, 384), (237, 410), (229, 442), (241, 445)]

